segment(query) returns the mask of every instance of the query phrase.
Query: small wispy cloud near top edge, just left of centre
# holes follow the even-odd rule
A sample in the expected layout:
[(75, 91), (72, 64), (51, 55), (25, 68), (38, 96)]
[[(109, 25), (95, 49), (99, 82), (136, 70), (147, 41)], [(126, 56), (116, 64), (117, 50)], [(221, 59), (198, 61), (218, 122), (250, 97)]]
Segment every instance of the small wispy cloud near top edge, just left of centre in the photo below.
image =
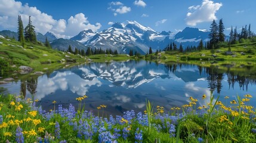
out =
[(122, 2), (110, 2), (110, 7), (107, 10), (111, 10), (114, 12), (114, 15), (125, 14), (131, 11), (130, 7), (125, 6)]

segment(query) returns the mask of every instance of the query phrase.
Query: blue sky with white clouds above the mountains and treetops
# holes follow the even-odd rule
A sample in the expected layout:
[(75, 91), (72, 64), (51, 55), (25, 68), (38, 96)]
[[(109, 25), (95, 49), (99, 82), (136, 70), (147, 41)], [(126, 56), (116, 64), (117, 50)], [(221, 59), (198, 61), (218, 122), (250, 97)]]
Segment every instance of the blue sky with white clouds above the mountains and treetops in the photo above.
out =
[[(229, 28), (251, 24), (256, 27), (256, 1), (215, 0), (0, 0), (0, 30), (17, 31), (21, 14), (26, 26), (29, 15), (36, 32), (50, 31), (58, 37), (70, 38), (81, 30), (100, 32), (115, 22), (137, 21), (161, 32), (177, 32), (185, 27), (209, 30), (213, 19), (223, 18)], [(255, 30), (254, 30), (255, 31)]]

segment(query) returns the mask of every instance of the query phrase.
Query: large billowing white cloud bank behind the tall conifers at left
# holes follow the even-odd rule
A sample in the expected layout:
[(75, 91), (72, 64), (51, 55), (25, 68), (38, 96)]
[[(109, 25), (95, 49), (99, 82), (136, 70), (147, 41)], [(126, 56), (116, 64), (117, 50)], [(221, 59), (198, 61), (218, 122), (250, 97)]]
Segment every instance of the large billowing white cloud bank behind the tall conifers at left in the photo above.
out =
[[(119, 2), (116, 4), (120, 5)], [(82, 30), (92, 29), (94, 32), (100, 29), (101, 24), (91, 24), (84, 14), (79, 13), (69, 20), (55, 20), (51, 15), (42, 13), (36, 7), (29, 7), (28, 4), (22, 5), (21, 2), (14, 0), (0, 0), (0, 28), (17, 30), (17, 18), (21, 15), (24, 27), (31, 16), (32, 24), (36, 32), (42, 34), (52, 32), (60, 38), (70, 38)]]

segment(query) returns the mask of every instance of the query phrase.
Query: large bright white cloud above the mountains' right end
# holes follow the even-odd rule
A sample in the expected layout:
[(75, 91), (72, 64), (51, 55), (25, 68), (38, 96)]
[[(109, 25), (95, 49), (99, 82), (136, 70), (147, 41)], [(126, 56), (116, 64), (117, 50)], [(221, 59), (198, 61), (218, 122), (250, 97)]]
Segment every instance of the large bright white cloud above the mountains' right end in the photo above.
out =
[(189, 7), (187, 13), (187, 25), (196, 26), (198, 23), (217, 20), (215, 13), (222, 6), (221, 3), (214, 3), (213, 1), (203, 0), (201, 5), (193, 5)]

